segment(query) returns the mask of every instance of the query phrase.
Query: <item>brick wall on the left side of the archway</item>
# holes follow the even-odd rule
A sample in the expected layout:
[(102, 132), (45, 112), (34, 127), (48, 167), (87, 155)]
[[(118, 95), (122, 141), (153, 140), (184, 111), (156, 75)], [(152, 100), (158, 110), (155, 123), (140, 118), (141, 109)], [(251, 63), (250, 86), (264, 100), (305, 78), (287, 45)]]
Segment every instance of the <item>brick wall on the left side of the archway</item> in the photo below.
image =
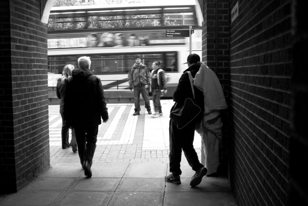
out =
[(0, 184), (12, 186), (1, 192), (16, 192), (50, 166), (47, 28), (40, 22), (40, 1), (11, 0), (5, 6), (10, 47), (1, 47), (7, 63), (0, 76), (5, 85), (0, 90), (0, 129), (5, 131), (0, 136)]

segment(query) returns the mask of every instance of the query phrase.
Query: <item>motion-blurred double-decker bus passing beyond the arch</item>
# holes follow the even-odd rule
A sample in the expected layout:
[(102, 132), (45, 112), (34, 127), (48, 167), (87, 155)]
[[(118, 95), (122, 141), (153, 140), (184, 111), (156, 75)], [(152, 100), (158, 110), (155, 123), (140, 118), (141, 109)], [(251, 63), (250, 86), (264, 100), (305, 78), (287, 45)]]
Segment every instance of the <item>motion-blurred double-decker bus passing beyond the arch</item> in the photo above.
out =
[[(61, 76), (67, 64), (77, 66), (81, 56), (91, 58), (91, 71), (104, 89), (128, 88), (128, 71), (140, 55), (152, 70), (160, 61), (172, 97), (187, 68), (189, 37), (170, 37), (166, 30), (188, 30), (192, 26), (192, 53), (201, 56), (201, 22), (195, 4), (115, 5), (99, 7), (53, 7), (48, 22), (48, 79)], [(49, 81), (55, 87), (56, 81)]]

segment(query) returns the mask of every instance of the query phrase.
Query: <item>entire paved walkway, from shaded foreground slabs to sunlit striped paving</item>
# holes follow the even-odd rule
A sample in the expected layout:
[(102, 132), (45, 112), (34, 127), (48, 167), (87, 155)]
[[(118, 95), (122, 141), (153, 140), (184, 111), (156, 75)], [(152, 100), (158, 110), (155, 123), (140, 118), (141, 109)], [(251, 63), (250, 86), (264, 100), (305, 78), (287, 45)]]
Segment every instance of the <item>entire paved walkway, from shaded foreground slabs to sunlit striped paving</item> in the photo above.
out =
[[(99, 126), (92, 178), (84, 176), (77, 152), (62, 149), (59, 105), (50, 105), (51, 168), (21, 191), (0, 196), (0, 205), (235, 206), (226, 177), (206, 177), (197, 187), (189, 186), (194, 171), (184, 154), (182, 183), (164, 181), (169, 174), (168, 127), (173, 101), (161, 100), (161, 104), (163, 116), (157, 118), (148, 115), (145, 108), (133, 116), (132, 103), (107, 104), (109, 121)], [(201, 159), (197, 133), (194, 146)]]

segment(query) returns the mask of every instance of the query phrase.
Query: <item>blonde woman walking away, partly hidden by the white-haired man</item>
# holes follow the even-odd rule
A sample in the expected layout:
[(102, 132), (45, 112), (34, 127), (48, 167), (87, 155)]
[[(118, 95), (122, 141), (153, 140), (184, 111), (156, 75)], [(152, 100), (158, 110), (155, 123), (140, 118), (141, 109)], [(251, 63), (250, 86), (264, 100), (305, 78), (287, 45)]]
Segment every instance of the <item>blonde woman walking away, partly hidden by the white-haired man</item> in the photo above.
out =
[(60, 100), (60, 114), (62, 117), (62, 130), (61, 130), (62, 149), (66, 149), (71, 146), (73, 152), (76, 152), (77, 142), (76, 142), (75, 130), (73, 127), (71, 128), (72, 129), (72, 139), (71, 139), (71, 143), (69, 143), (68, 133), (69, 133), (70, 128), (65, 125), (64, 115), (63, 115), (64, 94), (65, 94), (66, 83), (67, 83), (67, 80), (71, 78), (73, 69), (74, 69), (74, 66), (71, 64), (68, 64), (63, 68), (62, 77), (59, 78), (57, 82), (56, 94), (57, 94), (57, 97), (61, 99)]

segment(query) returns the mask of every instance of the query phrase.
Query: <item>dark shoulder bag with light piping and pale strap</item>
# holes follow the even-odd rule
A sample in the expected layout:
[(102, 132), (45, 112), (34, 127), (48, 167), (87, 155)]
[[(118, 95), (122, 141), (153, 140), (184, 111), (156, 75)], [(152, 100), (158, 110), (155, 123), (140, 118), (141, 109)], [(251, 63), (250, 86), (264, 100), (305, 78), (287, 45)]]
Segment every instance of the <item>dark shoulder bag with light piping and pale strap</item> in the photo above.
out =
[(184, 104), (180, 108), (176, 108), (176, 104), (173, 110), (170, 112), (170, 118), (176, 124), (178, 129), (185, 128), (189, 123), (193, 122), (200, 114), (201, 108), (197, 105), (195, 100), (195, 91), (193, 89), (193, 77), (190, 71), (187, 72), (189, 76), (190, 86), (193, 91), (193, 99), (186, 98)]

